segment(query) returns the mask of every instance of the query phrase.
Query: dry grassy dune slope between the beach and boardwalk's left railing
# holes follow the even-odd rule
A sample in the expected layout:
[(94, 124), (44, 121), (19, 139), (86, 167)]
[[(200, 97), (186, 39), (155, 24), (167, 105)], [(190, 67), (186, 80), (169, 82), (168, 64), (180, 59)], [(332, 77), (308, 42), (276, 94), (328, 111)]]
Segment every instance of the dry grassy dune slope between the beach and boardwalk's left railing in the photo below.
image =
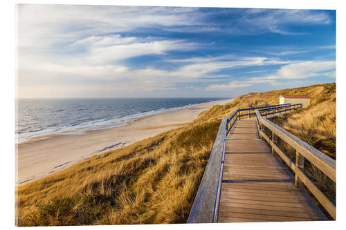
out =
[(185, 222), (218, 126), (177, 128), (19, 186), (18, 224)]

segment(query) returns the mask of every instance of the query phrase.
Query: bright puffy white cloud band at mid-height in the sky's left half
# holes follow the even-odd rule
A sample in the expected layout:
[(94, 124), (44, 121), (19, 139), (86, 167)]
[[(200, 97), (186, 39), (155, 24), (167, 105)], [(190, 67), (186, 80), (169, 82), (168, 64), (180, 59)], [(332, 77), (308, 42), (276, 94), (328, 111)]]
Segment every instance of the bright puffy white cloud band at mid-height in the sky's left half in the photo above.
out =
[(19, 68), (42, 68), (52, 63), (66, 66), (101, 66), (129, 57), (163, 55), (171, 50), (191, 50), (197, 47), (197, 44), (178, 39), (91, 36), (64, 46), (64, 50), (60, 51), (62, 54), (19, 47)]

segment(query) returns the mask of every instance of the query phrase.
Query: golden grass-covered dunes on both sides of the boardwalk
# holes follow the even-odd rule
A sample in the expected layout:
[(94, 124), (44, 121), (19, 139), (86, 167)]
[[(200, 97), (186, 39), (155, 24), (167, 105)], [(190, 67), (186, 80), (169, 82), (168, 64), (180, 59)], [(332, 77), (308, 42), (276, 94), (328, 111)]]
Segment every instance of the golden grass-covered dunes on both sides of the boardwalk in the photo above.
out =
[[(249, 93), (204, 111), (189, 124), (102, 153), (17, 188), (17, 224), (154, 224), (188, 219), (222, 117), (237, 108), (309, 95), (311, 105), (274, 122), (336, 157), (336, 84)], [(49, 149), (46, 150), (49, 152)], [(290, 154), (290, 149), (286, 149)], [(335, 184), (312, 166), (308, 175), (335, 202)]]

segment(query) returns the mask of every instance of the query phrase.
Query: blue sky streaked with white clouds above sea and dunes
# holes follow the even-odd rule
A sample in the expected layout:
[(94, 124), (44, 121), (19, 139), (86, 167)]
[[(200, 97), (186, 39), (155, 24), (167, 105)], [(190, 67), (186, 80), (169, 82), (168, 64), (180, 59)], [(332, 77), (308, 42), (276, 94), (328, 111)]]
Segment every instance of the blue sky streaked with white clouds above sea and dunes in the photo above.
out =
[(335, 82), (334, 10), (19, 5), (18, 97), (236, 97)]

